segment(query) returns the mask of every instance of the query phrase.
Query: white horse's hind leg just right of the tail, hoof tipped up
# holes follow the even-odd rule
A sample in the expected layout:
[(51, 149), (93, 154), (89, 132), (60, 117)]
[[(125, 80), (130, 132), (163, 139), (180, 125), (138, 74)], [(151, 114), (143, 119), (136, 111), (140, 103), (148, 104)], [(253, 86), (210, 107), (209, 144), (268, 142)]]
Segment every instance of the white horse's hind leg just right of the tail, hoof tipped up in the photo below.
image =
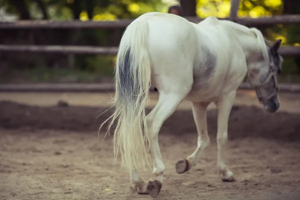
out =
[(159, 93), (157, 104), (146, 116), (150, 148), (153, 156), (154, 175), (147, 184), (147, 191), (153, 198), (158, 196), (162, 186), (163, 172), (165, 170), (158, 144), (158, 132), (162, 123), (175, 111), (187, 93), (188, 91), (184, 91), (184, 89), (172, 93), (168, 92), (167, 94)]

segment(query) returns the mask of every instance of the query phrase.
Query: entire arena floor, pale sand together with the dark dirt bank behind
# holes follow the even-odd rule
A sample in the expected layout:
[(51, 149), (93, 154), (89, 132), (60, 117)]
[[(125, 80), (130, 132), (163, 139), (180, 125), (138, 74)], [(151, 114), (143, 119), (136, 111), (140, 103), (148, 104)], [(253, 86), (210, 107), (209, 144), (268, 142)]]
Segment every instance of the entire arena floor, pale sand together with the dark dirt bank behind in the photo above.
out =
[[(152, 199), (130, 192), (111, 138), (97, 140), (109, 114), (101, 111), (0, 101), (0, 199)], [(300, 113), (232, 108), (226, 154), (235, 182), (217, 174), (215, 109), (207, 123), (210, 146), (195, 167), (176, 174), (174, 164), (195, 149), (197, 133), (190, 110), (164, 122), (159, 145), (166, 170), (157, 199), (300, 199)], [(145, 181), (151, 171), (141, 173)]]

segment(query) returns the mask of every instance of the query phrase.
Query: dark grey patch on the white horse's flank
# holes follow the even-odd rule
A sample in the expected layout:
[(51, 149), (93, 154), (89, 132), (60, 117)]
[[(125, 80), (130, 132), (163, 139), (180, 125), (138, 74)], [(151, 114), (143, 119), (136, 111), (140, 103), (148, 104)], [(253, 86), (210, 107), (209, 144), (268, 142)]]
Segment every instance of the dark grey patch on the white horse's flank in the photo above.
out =
[(194, 86), (205, 87), (208, 84), (209, 78), (213, 75), (216, 65), (216, 55), (207, 47), (202, 46), (199, 53), (199, 62), (194, 66), (193, 80)]

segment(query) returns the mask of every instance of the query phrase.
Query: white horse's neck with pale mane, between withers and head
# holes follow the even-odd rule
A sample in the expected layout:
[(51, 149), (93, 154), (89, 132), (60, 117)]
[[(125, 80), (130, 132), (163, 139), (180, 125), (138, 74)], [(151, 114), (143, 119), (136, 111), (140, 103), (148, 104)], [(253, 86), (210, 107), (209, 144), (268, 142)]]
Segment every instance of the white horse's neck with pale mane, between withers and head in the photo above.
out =
[[(229, 34), (233, 34), (235, 40), (242, 48), (247, 61), (261, 59), (265, 56), (263, 44), (263, 37), (259, 32), (250, 29), (246, 26), (231, 22), (221, 21), (223, 25), (228, 27)], [(262, 37), (262, 38), (260, 38)]]

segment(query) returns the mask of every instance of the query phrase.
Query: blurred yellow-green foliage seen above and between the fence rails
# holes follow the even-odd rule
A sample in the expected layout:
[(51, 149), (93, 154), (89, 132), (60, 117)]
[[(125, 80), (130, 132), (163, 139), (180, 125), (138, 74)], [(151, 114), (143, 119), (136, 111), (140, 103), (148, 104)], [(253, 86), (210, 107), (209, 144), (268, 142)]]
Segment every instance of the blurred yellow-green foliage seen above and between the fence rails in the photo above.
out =
[[(41, 7), (35, 0), (24, 1), (32, 19), (42, 18)], [(170, 4), (162, 0), (41, 0), (46, 8), (49, 19), (52, 20), (115, 20), (118, 18), (136, 18), (139, 15), (159, 11), (166, 12)], [(17, 14), (20, 8), (15, 7), (9, 0), (2, 0), (6, 12)], [(196, 0), (196, 13), (199, 17), (214, 15), (226, 17), (230, 10), (230, 0)], [(240, 0), (238, 16), (270, 16), (283, 12), (283, 2), (290, 0)], [(292, 0), (291, 0), (292, 2)], [(299, 3), (298, 3), (299, 4)], [(296, 12), (300, 13), (300, 6)], [(300, 45), (299, 25), (259, 26), (264, 36), (270, 41), (282, 39), (282, 45)], [(115, 31), (115, 32), (114, 32)], [(68, 44), (76, 45), (117, 45), (123, 29), (120, 30), (74, 30), (67, 39)], [(59, 39), (57, 38), (57, 41)], [(55, 41), (56, 42), (56, 41)], [(97, 74), (112, 74), (114, 56), (105, 55), (76, 55), (75, 70), (84, 70)], [(300, 73), (300, 63), (296, 58), (285, 58), (283, 74)], [(43, 75), (47, 79), (47, 75)]]

